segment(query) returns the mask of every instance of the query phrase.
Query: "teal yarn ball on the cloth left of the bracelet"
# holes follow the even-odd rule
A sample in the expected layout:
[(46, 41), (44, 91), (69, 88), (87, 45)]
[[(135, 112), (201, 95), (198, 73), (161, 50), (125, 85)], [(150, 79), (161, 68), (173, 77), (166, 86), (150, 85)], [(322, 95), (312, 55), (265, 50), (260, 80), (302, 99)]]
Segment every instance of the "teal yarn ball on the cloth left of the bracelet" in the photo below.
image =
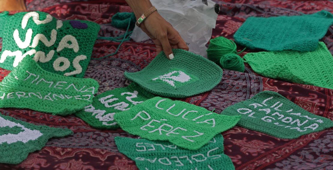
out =
[(131, 23), (130, 29), (133, 29), (135, 27), (135, 22), (137, 21), (133, 12), (117, 12), (112, 16), (111, 20), (112, 26), (121, 29), (126, 29), (128, 22)]

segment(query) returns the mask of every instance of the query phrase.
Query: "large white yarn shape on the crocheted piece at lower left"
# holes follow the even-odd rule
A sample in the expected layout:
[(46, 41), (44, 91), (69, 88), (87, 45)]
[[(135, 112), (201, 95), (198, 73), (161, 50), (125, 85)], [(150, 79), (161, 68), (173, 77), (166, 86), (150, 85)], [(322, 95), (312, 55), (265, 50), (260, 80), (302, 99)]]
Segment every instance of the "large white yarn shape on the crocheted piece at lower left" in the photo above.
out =
[(17, 142), (17, 141), (21, 141), (23, 143), (27, 143), (30, 140), (36, 140), (37, 138), (39, 138), (40, 136), (43, 135), (43, 133), (41, 133), (39, 130), (31, 130), (28, 128), (25, 128), (23, 125), (15, 123), (15, 122), (11, 122), (9, 120), (6, 120), (2, 117), (0, 117), (0, 129), (4, 128), (4, 127), (10, 127), (13, 128), (15, 126), (17, 127), (21, 127), (22, 130), (19, 132), (18, 134), (3, 134), (0, 135), (0, 144), (7, 142), (8, 144)]

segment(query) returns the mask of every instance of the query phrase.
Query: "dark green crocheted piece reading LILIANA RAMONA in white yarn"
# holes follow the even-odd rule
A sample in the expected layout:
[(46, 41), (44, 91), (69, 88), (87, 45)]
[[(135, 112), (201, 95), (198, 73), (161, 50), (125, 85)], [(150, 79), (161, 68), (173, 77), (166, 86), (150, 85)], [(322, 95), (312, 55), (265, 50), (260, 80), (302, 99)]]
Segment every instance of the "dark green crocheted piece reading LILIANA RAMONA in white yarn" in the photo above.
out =
[(309, 113), (272, 91), (260, 92), (227, 107), (221, 114), (241, 115), (237, 125), (286, 139), (333, 127), (331, 120)]

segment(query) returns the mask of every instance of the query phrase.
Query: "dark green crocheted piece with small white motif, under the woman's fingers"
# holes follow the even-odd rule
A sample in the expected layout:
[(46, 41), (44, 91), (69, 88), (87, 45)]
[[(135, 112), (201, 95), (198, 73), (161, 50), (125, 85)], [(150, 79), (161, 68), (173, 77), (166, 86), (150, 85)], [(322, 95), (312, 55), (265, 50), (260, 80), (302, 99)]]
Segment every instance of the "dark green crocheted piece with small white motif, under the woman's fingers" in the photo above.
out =
[(178, 98), (209, 91), (221, 81), (222, 69), (214, 62), (182, 49), (172, 51), (172, 60), (162, 51), (141, 71), (124, 75), (151, 93)]

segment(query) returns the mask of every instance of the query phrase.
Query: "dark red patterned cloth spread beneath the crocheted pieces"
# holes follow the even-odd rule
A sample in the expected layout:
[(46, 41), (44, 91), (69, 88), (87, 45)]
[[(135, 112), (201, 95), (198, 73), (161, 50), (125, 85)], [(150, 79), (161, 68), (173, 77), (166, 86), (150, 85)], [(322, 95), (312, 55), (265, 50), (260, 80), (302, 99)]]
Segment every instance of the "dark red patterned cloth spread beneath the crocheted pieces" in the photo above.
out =
[[(333, 12), (332, 1), (291, 0), (225, 0), (216, 2), (221, 7), (212, 38), (229, 39), (250, 16), (280, 16)], [(117, 12), (129, 12), (124, 0), (27, 0), (27, 10), (44, 11), (61, 19), (89, 20), (101, 24), (99, 36), (113, 37), (123, 34), (111, 26), (111, 17)], [(333, 53), (333, 26), (322, 40)], [(93, 58), (113, 53), (119, 43), (98, 40)], [(1, 47), (1, 39), (0, 39)], [(239, 49), (242, 47), (240, 46)], [(246, 52), (250, 52), (246, 50)], [(244, 54), (244, 53), (242, 53)], [(92, 60), (86, 77), (99, 81), (99, 92), (124, 87), (130, 82), (124, 71), (139, 71), (156, 56), (151, 41), (125, 42), (119, 52), (106, 59)], [(0, 80), (9, 71), (0, 69)], [(249, 99), (263, 90), (276, 91), (305, 110), (333, 120), (333, 90), (310, 85), (287, 83), (258, 76), (246, 65), (245, 72), (223, 70), (222, 81), (212, 90), (186, 99), (188, 103), (216, 109)], [(60, 117), (32, 110), (0, 109), (3, 115), (50, 127), (66, 127), (74, 135), (50, 140), (40, 151), (29, 154), (19, 165), (0, 164), (0, 169), (108, 169), (135, 170), (135, 162), (119, 153), (114, 137), (129, 136), (121, 129), (97, 130), (74, 116)], [(253, 130), (234, 127), (223, 133), (225, 154), (230, 156), (236, 169), (333, 169), (333, 128), (303, 135), (297, 139), (279, 139)]]

